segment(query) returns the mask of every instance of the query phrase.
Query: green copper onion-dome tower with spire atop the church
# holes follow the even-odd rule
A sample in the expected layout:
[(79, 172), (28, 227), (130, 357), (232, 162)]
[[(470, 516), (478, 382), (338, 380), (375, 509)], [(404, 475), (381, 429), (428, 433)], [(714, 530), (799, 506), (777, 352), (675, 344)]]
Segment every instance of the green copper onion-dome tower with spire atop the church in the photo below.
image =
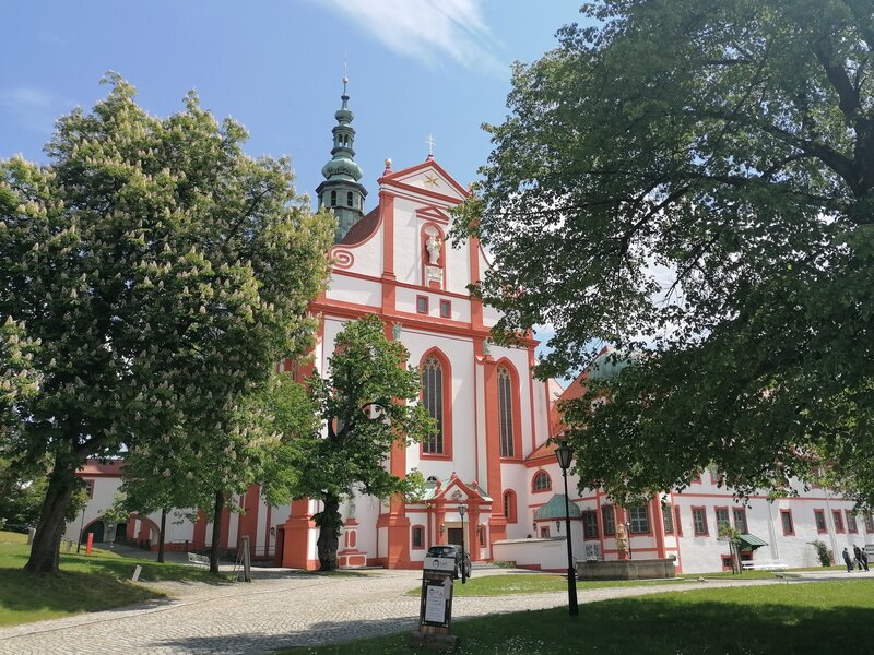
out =
[(347, 107), (346, 84), (349, 78), (343, 78), (343, 95), (340, 96), (343, 104), (334, 114), (336, 126), (331, 130), (334, 142), (332, 158), (321, 169), (324, 181), (316, 188), (319, 209), (328, 207), (336, 217), (334, 242), (338, 243), (364, 215), (364, 199), (367, 196), (367, 190), (358, 182), (364, 174), (354, 159), (355, 128), (351, 123), (355, 116)]

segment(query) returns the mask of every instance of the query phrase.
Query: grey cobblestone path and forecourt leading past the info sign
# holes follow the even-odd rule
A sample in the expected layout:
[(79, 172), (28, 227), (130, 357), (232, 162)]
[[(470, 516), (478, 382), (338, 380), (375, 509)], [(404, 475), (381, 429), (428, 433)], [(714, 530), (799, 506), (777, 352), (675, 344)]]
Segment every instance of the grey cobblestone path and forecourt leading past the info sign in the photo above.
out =
[[(513, 574), (511, 571), (475, 571)], [(151, 583), (170, 599), (0, 629), (0, 653), (50, 654), (255, 654), (413, 630), (421, 584), (417, 571), (312, 575), (264, 570), (251, 584)], [(846, 574), (843, 574), (846, 575)], [(874, 573), (860, 574), (861, 577)], [(781, 584), (749, 581), (742, 584)], [(580, 603), (739, 582), (580, 591)], [(453, 620), (566, 605), (567, 593), (457, 597)]]

